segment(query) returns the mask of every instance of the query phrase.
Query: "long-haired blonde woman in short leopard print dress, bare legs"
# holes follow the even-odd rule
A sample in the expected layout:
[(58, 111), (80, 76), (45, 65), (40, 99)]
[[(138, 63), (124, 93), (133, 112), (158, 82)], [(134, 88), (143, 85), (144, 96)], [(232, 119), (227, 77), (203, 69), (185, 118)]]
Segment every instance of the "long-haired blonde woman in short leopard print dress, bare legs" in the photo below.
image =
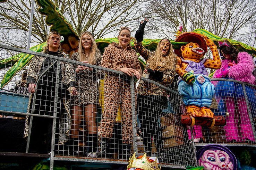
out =
[[(79, 39), (78, 52), (74, 53), (70, 59), (79, 62), (100, 66), (102, 55), (97, 48), (93, 35), (82, 32)], [(78, 94), (73, 97), (71, 104), (72, 127), (70, 131), (70, 142), (74, 145), (74, 151), (78, 151), (79, 125), (84, 117), (87, 126), (88, 136), (87, 149), (84, 150), (87, 157), (96, 157), (97, 152), (97, 104), (99, 103), (99, 86), (97, 78), (104, 78), (99, 70), (73, 64), (76, 72), (76, 87)], [(71, 145), (71, 144), (69, 144)], [(71, 149), (72, 150), (72, 149)]]

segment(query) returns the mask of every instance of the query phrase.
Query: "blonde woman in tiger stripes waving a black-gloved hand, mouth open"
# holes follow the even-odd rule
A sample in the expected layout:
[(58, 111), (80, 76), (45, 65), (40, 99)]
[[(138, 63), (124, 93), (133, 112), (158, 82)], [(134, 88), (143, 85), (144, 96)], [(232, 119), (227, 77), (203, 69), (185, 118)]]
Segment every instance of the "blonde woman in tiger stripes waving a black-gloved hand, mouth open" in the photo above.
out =
[[(139, 29), (136, 31), (134, 43), (135, 49), (146, 60), (143, 77), (149, 74), (149, 79), (164, 86), (172, 83), (175, 75), (177, 63), (176, 55), (173, 52), (169, 39), (162, 39), (152, 52), (142, 46), (144, 28), (148, 19), (140, 22)], [(138, 85), (137, 108), (142, 130), (145, 152), (151, 156), (151, 138), (157, 148), (157, 158), (164, 159), (162, 129), (159, 127), (158, 120), (162, 110), (167, 107), (166, 94), (163, 88), (152, 83), (140, 80)]]

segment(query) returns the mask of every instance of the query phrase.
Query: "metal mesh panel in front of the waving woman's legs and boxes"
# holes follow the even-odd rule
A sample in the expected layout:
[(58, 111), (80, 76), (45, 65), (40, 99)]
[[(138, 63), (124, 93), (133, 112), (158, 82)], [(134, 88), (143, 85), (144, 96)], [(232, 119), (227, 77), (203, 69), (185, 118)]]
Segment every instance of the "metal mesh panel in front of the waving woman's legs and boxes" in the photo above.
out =
[(145, 78), (140, 80), (136, 93), (138, 154), (156, 156), (162, 164), (196, 166), (187, 127), (180, 124), (180, 115), (185, 113), (182, 97)]

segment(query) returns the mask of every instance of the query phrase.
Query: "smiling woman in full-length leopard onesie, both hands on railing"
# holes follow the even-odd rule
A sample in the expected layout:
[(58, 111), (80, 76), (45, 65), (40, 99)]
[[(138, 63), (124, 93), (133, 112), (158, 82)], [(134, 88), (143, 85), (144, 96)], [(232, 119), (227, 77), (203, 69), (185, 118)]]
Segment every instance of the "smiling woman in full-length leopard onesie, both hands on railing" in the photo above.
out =
[[(126, 27), (120, 29), (119, 43), (111, 43), (105, 48), (102, 55), (101, 66), (121, 71), (128, 76), (140, 78), (141, 68), (136, 51), (130, 46), (130, 30)], [(104, 111), (100, 123), (101, 156), (110, 157), (109, 139), (112, 137), (114, 122), (117, 117), (118, 106), (122, 109), (122, 159), (130, 156), (130, 143), (132, 142), (132, 109), (130, 83), (124, 77), (107, 73), (104, 81)], [(129, 79), (129, 77), (127, 77)], [(106, 150), (107, 149), (107, 150)], [(106, 155), (107, 154), (107, 155)], [(120, 155), (119, 155), (120, 156)], [(121, 159), (119, 157), (119, 159)]]

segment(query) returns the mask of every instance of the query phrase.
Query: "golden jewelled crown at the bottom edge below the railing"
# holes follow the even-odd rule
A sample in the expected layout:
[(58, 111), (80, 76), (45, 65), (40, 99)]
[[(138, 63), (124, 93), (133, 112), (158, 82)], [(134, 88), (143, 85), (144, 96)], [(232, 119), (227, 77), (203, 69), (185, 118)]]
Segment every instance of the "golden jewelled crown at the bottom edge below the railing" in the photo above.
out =
[(155, 159), (154, 162), (149, 162), (147, 160), (146, 153), (144, 153), (142, 158), (137, 159), (135, 153), (136, 152), (134, 152), (133, 156), (130, 157), (127, 169), (128, 168), (140, 168), (143, 170), (160, 170), (161, 169), (161, 166), (160, 168), (158, 167), (157, 159)]

